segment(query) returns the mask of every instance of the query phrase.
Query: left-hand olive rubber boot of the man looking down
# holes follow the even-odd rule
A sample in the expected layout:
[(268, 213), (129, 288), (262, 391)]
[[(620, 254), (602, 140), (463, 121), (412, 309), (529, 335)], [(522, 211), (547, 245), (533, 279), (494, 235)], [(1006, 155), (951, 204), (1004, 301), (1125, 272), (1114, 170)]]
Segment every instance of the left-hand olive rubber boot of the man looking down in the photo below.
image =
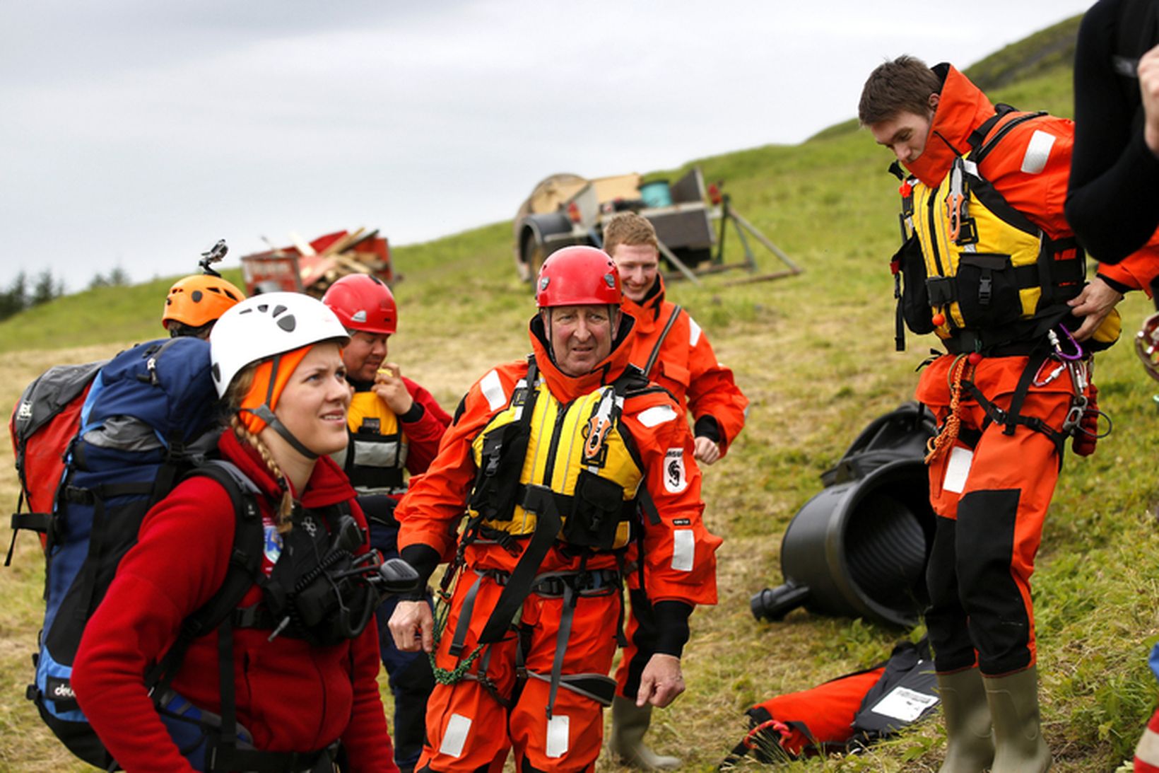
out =
[(938, 674), (946, 721), (946, 761), (938, 773), (981, 773), (994, 759), (990, 706), (978, 670)]

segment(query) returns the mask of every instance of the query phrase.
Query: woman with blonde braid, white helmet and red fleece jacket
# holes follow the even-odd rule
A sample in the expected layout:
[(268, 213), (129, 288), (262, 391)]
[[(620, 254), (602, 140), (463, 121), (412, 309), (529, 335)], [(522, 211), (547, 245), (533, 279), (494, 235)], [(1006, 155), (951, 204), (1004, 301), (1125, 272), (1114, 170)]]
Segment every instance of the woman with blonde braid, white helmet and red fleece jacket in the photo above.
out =
[[(347, 771), (398, 771), (370, 616), (312, 626), (300, 606), (277, 601), (325, 570), (340, 540), (356, 562), (370, 550), (355, 492), (327, 456), (347, 445), (347, 340), (329, 309), (290, 292), (243, 301), (214, 326), (212, 374), (229, 421), (218, 450), (253, 484), (264, 544), (254, 548), (261, 565), (234, 614), (192, 641), (169, 686), (203, 713), (235, 718), (238, 741), (223, 730), (229, 743), (207, 752), (204, 766), (183, 756), (143, 678), (246, 548), (234, 541), (241, 526), (227, 487), (194, 476), (145, 516), (76, 656), (76, 699), (126, 771), (329, 772), (338, 759)], [(359, 607), (345, 597), (338, 606)], [(225, 641), (232, 686), (219, 664)]]

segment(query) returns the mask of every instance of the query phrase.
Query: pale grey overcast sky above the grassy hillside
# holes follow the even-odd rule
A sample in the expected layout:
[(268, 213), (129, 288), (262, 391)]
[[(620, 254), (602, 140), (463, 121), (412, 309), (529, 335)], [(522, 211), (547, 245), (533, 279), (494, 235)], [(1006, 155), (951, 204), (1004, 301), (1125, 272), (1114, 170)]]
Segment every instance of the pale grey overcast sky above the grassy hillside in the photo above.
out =
[(194, 272), (219, 238), (227, 266), (290, 231), (425, 241), (555, 172), (799, 143), (885, 58), (964, 67), (1089, 5), (8, 0), (0, 284)]

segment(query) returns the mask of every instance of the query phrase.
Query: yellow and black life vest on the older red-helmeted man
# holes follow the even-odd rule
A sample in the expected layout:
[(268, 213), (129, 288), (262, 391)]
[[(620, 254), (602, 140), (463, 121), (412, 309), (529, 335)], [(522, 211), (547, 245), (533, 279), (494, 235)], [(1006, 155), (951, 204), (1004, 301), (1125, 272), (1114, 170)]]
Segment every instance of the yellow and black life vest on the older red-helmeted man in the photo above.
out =
[[(524, 409), (531, 406), (530, 420)], [(561, 404), (541, 380), (526, 380), (510, 404), (475, 438), (479, 476), (468, 501), (482, 536), (531, 536), (537, 515), (524, 510), (529, 485), (549, 489), (564, 542), (596, 549), (625, 547), (643, 479), (620, 429), (624, 396), (602, 386)], [(523, 442), (526, 442), (525, 450)]]

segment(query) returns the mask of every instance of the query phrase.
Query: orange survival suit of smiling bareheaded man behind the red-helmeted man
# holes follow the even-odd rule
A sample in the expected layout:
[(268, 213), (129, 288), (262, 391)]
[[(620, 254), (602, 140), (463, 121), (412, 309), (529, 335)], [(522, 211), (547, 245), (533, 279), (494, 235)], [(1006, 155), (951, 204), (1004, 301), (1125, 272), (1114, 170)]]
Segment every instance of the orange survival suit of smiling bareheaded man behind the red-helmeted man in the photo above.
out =
[[(744, 427), (749, 400), (732, 380), (732, 371), (716, 361), (708, 337), (692, 316), (664, 299), (664, 280), (656, 283), (640, 303), (624, 296), (622, 308), (635, 317), (632, 363), (647, 371), (680, 404), (680, 413), (692, 413), (693, 435), (708, 438), (728, 453)], [(634, 577), (628, 578), (632, 614), (626, 630), (626, 646), (615, 671), (617, 689), (635, 700), (648, 659), (655, 652), (656, 621), (647, 595)]]

